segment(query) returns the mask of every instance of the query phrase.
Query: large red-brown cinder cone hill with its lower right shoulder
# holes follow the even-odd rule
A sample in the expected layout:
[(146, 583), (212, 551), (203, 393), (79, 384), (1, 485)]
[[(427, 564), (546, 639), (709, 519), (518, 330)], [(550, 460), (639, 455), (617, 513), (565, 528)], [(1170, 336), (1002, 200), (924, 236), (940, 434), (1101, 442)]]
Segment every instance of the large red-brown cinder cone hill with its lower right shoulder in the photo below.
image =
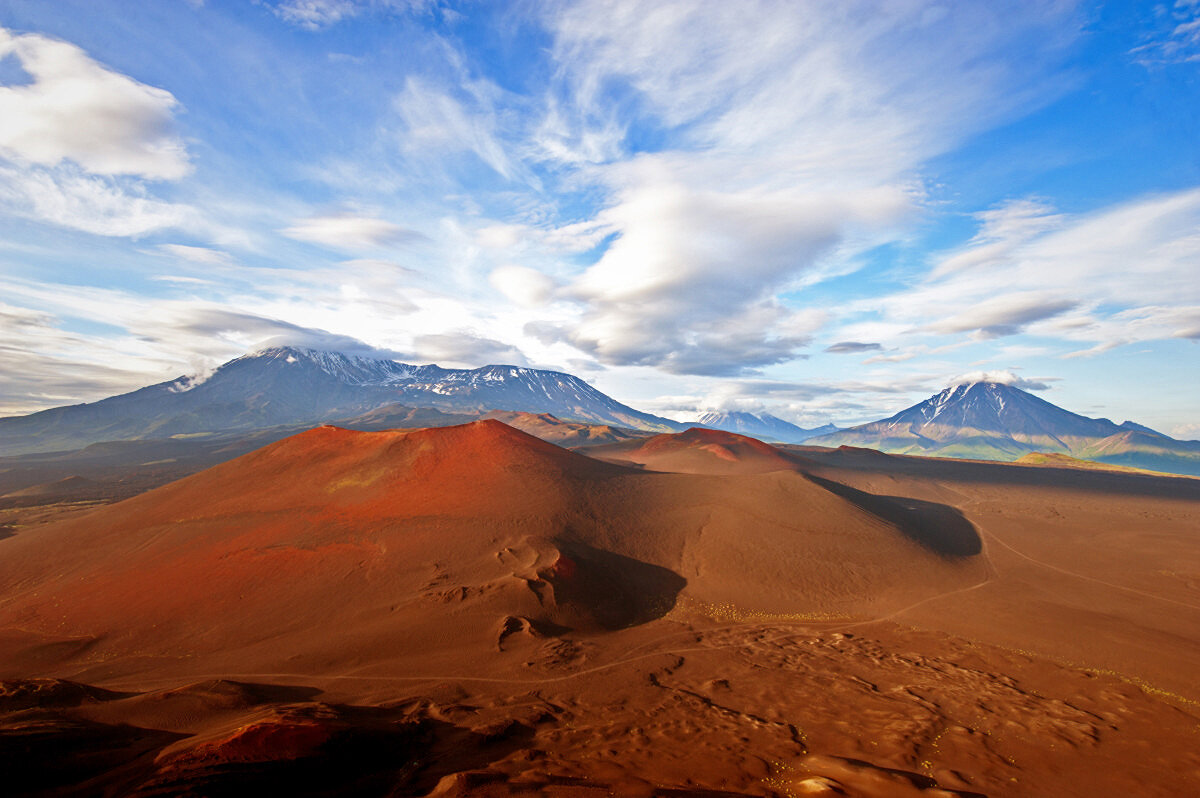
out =
[(688, 606), (863, 617), (982, 578), (961, 518), (930, 516), (966, 550), (830, 485), (646, 474), (498, 421), (322, 427), (4, 541), (0, 666), (461, 672), (685, 584)]

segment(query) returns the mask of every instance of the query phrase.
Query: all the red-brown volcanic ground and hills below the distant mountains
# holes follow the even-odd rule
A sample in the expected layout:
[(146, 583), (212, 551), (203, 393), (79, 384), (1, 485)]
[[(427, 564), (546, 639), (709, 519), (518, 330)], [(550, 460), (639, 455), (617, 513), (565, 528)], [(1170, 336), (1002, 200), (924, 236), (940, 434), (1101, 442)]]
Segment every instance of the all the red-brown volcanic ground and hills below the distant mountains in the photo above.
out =
[(322, 427), (18, 529), (7, 785), (1200, 790), (1200, 481), (620, 446)]

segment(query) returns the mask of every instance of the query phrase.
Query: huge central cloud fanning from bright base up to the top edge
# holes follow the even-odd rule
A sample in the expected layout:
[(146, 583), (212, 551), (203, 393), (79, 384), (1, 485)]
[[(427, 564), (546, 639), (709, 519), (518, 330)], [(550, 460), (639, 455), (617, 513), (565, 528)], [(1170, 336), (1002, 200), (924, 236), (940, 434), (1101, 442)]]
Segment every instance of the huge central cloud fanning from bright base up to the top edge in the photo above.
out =
[[(535, 139), (607, 193), (587, 233), (611, 244), (562, 293), (580, 322), (530, 330), (673, 373), (796, 358), (817, 328), (778, 296), (899, 236), (922, 163), (1062, 91), (1044, 66), (1078, 30), (1069, 10), (1013, 19), (988, 4), (932, 17), (912, 2), (547, 11), (563, 83)], [(1018, 41), (1026, 58), (1002, 58)], [(676, 149), (622, 152), (614, 107), (670, 130)]]

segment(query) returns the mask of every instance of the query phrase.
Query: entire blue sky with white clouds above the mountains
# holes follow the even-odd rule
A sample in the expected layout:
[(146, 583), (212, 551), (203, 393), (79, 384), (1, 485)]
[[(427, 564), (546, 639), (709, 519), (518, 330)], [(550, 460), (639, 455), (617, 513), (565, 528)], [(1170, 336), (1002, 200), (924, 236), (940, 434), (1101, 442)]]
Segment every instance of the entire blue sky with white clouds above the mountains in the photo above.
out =
[(0, 414), (271, 344), (1200, 438), (1200, 0), (0, 0)]

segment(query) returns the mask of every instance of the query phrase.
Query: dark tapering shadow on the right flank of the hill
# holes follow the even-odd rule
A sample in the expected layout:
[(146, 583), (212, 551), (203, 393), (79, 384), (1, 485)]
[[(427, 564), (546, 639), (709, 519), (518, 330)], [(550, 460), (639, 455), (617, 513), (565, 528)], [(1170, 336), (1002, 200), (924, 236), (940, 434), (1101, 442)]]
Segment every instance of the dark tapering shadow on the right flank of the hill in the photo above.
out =
[(974, 524), (955, 508), (902, 496), (876, 496), (812, 474), (809, 479), (942, 557), (971, 557), (983, 551)]

